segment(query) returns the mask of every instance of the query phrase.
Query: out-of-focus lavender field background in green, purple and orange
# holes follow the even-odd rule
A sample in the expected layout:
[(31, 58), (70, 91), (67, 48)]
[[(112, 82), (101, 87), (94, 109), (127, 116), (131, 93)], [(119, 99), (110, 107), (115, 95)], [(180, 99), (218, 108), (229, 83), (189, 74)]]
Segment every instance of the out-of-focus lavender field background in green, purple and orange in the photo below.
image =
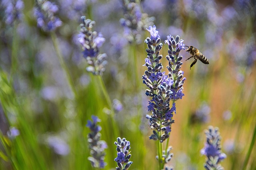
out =
[[(150, 33), (141, 29), (135, 40), (128, 39), (130, 35), (120, 24), (124, 18), (121, 0), (52, 2), (58, 5), (56, 16), (62, 20), (54, 34), (76, 95), (58, 60), (52, 34), (37, 27), (33, 15), (36, 3), (24, 0), (23, 17), (14, 24), (6, 23), (1, 5), (0, 169), (92, 169), (87, 160), (89, 129), (85, 126), (91, 115), (102, 120), (102, 140), (108, 144), (105, 169), (116, 167), (114, 141), (118, 136), (131, 143), (130, 160), (134, 163), (130, 169), (157, 169), (156, 142), (148, 139), (152, 131), (145, 118), (150, 114), (149, 99), (141, 80), (146, 70), (142, 66), (146, 58), (144, 39)], [(167, 35), (179, 35), (183, 43), (198, 48), (210, 62), (197, 61), (190, 70), (192, 59), (185, 61), (190, 54), (181, 52), (187, 80), (185, 96), (176, 102), (169, 143), (174, 157), (169, 164), (176, 170), (203, 170), (205, 157), (200, 149), (204, 147), (204, 129), (212, 125), (220, 129), (222, 151), (227, 155), (222, 166), (239, 170), (248, 160), (246, 169), (256, 169), (256, 2), (137, 3), (143, 13), (153, 17), (148, 24), (156, 25), (162, 43)], [(102, 76), (85, 69), (87, 63), (77, 40), (84, 15), (96, 21), (94, 30), (106, 38), (101, 52), (108, 55), (108, 65)], [(161, 54), (167, 72), (167, 45)], [(102, 87), (112, 102), (114, 119)], [(13, 127), (18, 134), (11, 131)]]

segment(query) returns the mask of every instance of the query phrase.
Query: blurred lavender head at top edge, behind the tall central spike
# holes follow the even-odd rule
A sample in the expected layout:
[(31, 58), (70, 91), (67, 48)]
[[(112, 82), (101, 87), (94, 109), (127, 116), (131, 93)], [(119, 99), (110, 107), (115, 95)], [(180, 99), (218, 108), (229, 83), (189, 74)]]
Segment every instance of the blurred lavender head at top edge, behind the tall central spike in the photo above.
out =
[(120, 24), (124, 26), (124, 35), (130, 43), (141, 42), (141, 31), (152, 25), (154, 17), (140, 11), (140, 4), (133, 0), (122, 0), (124, 18), (120, 19)]

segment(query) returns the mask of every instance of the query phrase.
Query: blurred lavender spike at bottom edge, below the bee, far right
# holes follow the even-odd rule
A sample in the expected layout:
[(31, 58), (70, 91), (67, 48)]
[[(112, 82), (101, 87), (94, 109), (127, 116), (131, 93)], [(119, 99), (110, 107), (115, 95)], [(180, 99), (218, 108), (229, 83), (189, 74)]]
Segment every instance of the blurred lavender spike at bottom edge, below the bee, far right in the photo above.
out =
[(209, 126), (208, 130), (205, 131), (206, 143), (204, 148), (200, 150), (201, 154), (207, 156), (204, 168), (206, 170), (224, 170), (224, 168), (219, 164), (226, 154), (221, 152), (220, 146), (220, 133), (218, 127)]

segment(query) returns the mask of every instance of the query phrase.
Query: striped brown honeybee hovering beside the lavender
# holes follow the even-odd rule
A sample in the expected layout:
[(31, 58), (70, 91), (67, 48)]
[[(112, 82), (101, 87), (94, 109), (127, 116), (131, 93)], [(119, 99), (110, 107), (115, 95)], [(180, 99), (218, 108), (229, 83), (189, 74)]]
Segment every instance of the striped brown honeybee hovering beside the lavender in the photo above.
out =
[[(185, 46), (188, 47), (187, 45), (185, 45)], [(204, 57), (204, 55), (202, 53), (200, 53), (200, 51), (197, 48), (193, 47), (192, 45), (189, 46), (186, 51), (188, 51), (188, 53), (190, 53), (190, 57), (188, 59), (191, 59), (192, 57), (194, 57), (194, 59), (195, 59), (193, 61), (193, 63), (190, 65), (190, 70), (191, 70), (191, 67), (194, 64), (196, 64), (197, 59), (200, 60), (204, 64), (209, 64), (208, 59), (206, 59), (206, 57)], [(186, 59), (186, 61), (188, 59)]]

